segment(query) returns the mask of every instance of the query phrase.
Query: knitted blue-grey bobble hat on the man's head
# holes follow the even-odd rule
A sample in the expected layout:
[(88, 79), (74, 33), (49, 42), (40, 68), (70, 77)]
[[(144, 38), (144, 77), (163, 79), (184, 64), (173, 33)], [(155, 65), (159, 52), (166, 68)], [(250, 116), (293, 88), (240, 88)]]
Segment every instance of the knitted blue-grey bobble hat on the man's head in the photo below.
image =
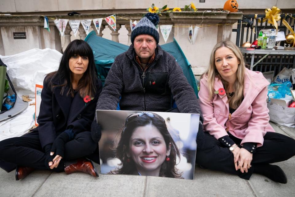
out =
[(131, 33), (131, 42), (133, 44), (136, 36), (141, 34), (148, 34), (155, 38), (156, 43), (159, 43), (159, 32), (157, 31), (156, 26), (159, 24), (159, 17), (154, 13), (147, 13), (144, 18), (134, 27)]

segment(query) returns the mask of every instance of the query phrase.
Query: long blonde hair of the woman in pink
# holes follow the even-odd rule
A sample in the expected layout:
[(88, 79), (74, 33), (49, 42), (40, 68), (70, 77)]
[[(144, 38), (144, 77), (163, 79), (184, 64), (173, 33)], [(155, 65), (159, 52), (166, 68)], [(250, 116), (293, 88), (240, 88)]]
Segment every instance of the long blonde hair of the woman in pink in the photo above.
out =
[[(227, 100), (229, 103), (230, 108), (232, 109), (237, 109), (240, 104), (242, 103), (243, 100), (243, 91), (244, 91), (244, 78), (246, 74), (246, 67), (245, 67), (245, 61), (244, 57), (239, 50), (239, 48), (233, 43), (229, 41), (224, 41), (224, 42), (218, 42), (210, 55), (210, 65), (207, 69), (207, 71), (203, 74), (207, 75), (207, 85), (208, 85), (208, 90), (209, 90), (209, 98), (211, 98), (214, 94), (214, 80), (215, 77), (219, 78), (224, 86), (225, 92), (228, 92), (229, 89), (229, 84), (225, 80), (222, 79), (221, 75), (218, 73), (218, 70), (216, 69), (215, 66), (215, 51), (221, 47), (227, 47), (230, 50), (234, 52), (234, 55), (238, 58), (240, 61), (240, 64), (238, 65), (238, 70), (236, 72), (237, 78), (236, 81), (234, 82), (234, 95)], [(202, 76), (202, 78), (203, 78)]]

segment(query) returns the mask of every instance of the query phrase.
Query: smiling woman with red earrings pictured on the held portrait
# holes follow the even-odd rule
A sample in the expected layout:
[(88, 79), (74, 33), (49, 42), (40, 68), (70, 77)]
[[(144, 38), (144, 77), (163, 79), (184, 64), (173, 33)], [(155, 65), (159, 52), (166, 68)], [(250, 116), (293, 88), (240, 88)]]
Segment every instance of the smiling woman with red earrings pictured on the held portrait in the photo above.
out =
[(181, 178), (175, 167), (179, 150), (165, 120), (155, 113), (137, 112), (126, 118), (116, 157), (120, 167), (110, 174)]

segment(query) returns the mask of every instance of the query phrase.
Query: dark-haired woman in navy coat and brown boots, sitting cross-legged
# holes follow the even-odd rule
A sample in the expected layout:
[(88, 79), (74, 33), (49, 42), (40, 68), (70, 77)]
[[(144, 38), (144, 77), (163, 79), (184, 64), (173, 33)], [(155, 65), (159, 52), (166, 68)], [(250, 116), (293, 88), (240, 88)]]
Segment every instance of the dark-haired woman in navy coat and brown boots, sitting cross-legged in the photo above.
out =
[(97, 176), (92, 162), (96, 143), (90, 127), (102, 84), (96, 75), (93, 52), (83, 40), (66, 48), (57, 71), (47, 74), (41, 92), (38, 127), (0, 142), (0, 167), (16, 168), (16, 180), (33, 169)]

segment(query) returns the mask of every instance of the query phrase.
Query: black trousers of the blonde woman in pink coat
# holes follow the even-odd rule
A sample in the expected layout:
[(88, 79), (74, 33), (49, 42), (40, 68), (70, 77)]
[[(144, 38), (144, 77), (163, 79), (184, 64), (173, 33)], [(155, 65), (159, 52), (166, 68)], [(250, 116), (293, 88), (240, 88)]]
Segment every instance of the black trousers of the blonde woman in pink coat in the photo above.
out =
[[(241, 139), (230, 135), (230, 138), (240, 146)], [(253, 154), (248, 173), (242, 173), (234, 167), (234, 154), (208, 132), (205, 132), (205, 145), (202, 150), (197, 149), (196, 163), (211, 170), (224, 171), (235, 174), (242, 179), (249, 180), (253, 174), (255, 164), (275, 163), (285, 161), (295, 155), (295, 140), (288, 136), (267, 132), (262, 147), (258, 147)]]

